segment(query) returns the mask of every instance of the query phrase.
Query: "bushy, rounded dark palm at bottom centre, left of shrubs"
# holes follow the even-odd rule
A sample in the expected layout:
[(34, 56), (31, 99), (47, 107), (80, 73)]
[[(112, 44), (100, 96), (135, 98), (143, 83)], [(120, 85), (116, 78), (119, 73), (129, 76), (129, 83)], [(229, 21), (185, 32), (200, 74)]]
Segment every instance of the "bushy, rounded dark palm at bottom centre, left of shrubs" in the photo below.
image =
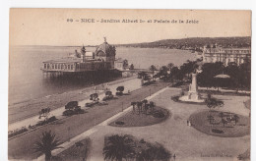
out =
[(135, 154), (134, 141), (131, 135), (114, 134), (106, 137), (103, 147), (104, 160), (122, 161)]

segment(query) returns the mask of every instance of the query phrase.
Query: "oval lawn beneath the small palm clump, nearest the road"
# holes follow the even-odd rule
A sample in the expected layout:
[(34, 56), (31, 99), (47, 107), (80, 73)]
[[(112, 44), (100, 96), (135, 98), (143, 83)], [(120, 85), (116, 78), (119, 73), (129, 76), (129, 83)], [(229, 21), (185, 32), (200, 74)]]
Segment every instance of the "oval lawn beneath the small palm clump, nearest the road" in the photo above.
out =
[(170, 113), (168, 110), (156, 106), (153, 113), (146, 115), (144, 113), (138, 114), (130, 111), (129, 113), (111, 122), (109, 125), (113, 127), (145, 127), (158, 124), (166, 120), (169, 116)]

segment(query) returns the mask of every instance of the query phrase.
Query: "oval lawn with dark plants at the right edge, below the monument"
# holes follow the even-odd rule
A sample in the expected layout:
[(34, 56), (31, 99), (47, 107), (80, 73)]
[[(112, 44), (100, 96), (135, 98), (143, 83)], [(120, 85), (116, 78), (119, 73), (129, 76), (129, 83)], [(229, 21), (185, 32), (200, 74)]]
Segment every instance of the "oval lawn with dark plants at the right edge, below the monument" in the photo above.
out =
[[(224, 120), (228, 120), (230, 116), (238, 116), (236, 124), (234, 121), (228, 121), (224, 125), (220, 113), (220, 111), (211, 111), (211, 113), (209, 111), (196, 112), (189, 117), (189, 120), (192, 127), (204, 134), (221, 137), (238, 137), (250, 134), (249, 117), (224, 112)], [(211, 124), (209, 120), (210, 115), (212, 116)]]

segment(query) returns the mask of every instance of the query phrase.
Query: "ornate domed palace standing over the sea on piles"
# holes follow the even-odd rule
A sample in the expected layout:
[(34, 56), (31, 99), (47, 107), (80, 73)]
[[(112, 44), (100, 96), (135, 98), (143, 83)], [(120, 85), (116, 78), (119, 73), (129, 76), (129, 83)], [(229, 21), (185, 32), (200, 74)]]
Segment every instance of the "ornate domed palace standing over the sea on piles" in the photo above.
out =
[(69, 57), (44, 61), (41, 70), (55, 73), (114, 70), (114, 61), (115, 47), (109, 45), (104, 39), (104, 42), (96, 47), (95, 52), (86, 51), (83, 45), (81, 53), (76, 50), (75, 54)]

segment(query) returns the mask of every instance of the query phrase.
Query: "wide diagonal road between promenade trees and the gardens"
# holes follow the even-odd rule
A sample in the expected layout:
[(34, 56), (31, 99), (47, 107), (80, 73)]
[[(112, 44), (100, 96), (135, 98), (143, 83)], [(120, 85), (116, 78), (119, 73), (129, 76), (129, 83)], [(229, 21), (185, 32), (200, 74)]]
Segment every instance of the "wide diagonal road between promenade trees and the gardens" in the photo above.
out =
[(87, 113), (59, 120), (54, 124), (47, 125), (31, 133), (24, 134), (8, 141), (9, 159), (34, 159), (36, 154), (32, 151), (34, 142), (42, 132), (51, 131), (55, 133), (61, 141), (68, 141), (70, 138), (88, 131), (97, 124), (119, 113), (131, 105), (132, 101), (139, 101), (149, 96), (151, 93), (159, 91), (167, 86), (167, 82), (156, 82), (140, 89), (134, 90), (130, 95), (124, 95), (108, 101), (108, 105), (95, 106), (87, 110)]

